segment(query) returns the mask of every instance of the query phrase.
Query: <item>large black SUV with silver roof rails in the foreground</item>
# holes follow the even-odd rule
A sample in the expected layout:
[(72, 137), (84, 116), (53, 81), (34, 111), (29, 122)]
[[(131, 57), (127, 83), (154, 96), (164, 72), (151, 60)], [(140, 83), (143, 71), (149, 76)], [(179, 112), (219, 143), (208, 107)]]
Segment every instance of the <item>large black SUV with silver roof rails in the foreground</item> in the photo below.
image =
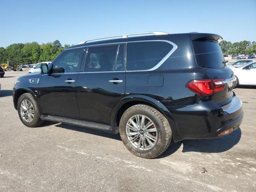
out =
[(239, 128), (242, 102), (216, 34), (150, 32), (87, 40), (41, 73), (19, 77), (13, 102), (24, 125), (44, 120), (120, 133), (136, 156), (171, 139), (216, 138)]

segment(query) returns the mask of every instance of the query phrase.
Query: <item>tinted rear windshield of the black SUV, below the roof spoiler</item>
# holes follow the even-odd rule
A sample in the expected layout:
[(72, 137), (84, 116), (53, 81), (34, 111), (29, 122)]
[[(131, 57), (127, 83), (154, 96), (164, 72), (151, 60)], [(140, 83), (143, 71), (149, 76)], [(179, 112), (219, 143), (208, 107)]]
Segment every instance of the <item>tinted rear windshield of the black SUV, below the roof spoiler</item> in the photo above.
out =
[(218, 42), (192, 41), (196, 63), (202, 68), (220, 69), (226, 64)]

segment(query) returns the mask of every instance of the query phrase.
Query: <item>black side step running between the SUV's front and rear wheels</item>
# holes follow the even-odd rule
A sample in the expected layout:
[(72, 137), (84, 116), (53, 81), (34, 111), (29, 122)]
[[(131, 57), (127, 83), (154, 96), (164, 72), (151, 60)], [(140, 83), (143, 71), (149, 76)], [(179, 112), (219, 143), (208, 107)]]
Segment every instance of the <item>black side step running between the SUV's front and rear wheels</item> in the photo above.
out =
[(54, 115), (40, 115), (40, 118), (42, 120), (46, 121), (53, 121), (58, 123), (64, 123), (64, 124), (70, 124), (80, 127), (86, 127), (96, 130), (102, 130), (109, 133), (118, 133), (118, 127), (112, 127), (110, 125), (102, 124), (102, 123), (95, 123), (90, 121), (84, 121), (79, 119), (72, 119), (72, 118), (66, 118), (66, 117), (60, 117), (60, 116), (54, 116)]

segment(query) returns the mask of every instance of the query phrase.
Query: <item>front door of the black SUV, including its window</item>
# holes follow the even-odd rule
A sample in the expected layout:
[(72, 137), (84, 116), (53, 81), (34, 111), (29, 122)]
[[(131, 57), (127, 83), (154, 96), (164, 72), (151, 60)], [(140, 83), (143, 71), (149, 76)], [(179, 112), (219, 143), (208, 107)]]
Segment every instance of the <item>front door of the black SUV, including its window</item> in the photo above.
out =
[(42, 114), (79, 118), (76, 100), (76, 79), (84, 48), (65, 50), (49, 66), (39, 84)]

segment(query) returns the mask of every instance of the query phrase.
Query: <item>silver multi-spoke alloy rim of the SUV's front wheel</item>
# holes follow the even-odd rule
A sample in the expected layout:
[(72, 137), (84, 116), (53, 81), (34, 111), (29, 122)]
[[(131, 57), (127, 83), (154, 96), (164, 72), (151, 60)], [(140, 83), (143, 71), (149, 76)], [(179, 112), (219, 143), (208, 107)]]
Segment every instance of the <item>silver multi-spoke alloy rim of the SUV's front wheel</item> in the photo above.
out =
[(20, 104), (20, 114), (24, 121), (32, 122), (34, 118), (34, 108), (29, 100), (24, 99)]

